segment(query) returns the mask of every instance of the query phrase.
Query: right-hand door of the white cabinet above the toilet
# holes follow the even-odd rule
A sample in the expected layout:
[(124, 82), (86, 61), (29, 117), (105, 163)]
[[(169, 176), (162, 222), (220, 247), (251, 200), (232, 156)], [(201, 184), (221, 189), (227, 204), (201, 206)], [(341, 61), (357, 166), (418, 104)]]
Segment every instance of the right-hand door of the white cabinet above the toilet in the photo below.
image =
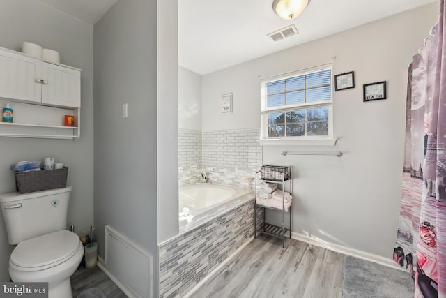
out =
[(81, 106), (81, 73), (42, 62), (42, 103), (64, 107)]

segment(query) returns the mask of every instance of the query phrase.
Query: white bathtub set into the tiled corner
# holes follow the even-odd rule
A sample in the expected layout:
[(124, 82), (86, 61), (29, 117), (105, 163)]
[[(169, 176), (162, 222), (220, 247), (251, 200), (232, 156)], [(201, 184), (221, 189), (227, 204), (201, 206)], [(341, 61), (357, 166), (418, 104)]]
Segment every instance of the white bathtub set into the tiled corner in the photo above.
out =
[[(254, 191), (247, 188), (236, 188), (220, 184), (192, 184), (180, 186), (179, 213), (183, 208), (189, 209), (193, 221), (198, 218), (215, 217), (228, 209), (236, 207), (254, 198)], [(192, 221), (192, 220), (190, 220)], [(187, 223), (190, 223), (187, 221)], [(180, 216), (180, 226), (184, 224), (185, 218)], [(180, 229), (181, 230), (181, 229)]]

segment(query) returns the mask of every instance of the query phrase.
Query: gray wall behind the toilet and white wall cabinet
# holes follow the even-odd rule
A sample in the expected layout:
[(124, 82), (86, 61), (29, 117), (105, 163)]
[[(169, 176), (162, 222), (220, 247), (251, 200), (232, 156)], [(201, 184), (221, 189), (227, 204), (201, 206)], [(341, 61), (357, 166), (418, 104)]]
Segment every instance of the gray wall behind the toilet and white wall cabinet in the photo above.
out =
[[(79, 140), (0, 137), (0, 193), (15, 191), (11, 163), (54, 156), (70, 169), (68, 185), (73, 186), (73, 191), (68, 224), (84, 230), (93, 225), (93, 26), (36, 0), (1, 0), (0, 47), (20, 51), (23, 41), (59, 51), (63, 64), (84, 70), (82, 131)], [(0, 215), (0, 281), (9, 281), (12, 249)]]

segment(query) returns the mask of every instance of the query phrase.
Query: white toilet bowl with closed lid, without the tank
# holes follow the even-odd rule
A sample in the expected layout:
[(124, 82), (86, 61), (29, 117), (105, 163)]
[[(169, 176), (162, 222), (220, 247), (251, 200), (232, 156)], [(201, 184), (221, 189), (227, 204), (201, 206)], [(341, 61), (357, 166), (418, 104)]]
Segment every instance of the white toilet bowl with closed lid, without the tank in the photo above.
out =
[(22, 241), (9, 260), (13, 281), (47, 282), (49, 298), (72, 297), (70, 276), (84, 255), (76, 234), (61, 230)]

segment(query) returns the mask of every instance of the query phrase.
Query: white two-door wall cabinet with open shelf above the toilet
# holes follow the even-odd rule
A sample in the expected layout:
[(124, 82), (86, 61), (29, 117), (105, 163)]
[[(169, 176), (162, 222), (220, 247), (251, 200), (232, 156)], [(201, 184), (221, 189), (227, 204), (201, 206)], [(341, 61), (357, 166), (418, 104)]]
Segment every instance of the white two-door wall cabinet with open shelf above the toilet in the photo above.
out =
[[(10, 103), (14, 122), (1, 137), (75, 139), (80, 136), (82, 70), (0, 48), (0, 110)], [(75, 126), (64, 126), (66, 114)]]

